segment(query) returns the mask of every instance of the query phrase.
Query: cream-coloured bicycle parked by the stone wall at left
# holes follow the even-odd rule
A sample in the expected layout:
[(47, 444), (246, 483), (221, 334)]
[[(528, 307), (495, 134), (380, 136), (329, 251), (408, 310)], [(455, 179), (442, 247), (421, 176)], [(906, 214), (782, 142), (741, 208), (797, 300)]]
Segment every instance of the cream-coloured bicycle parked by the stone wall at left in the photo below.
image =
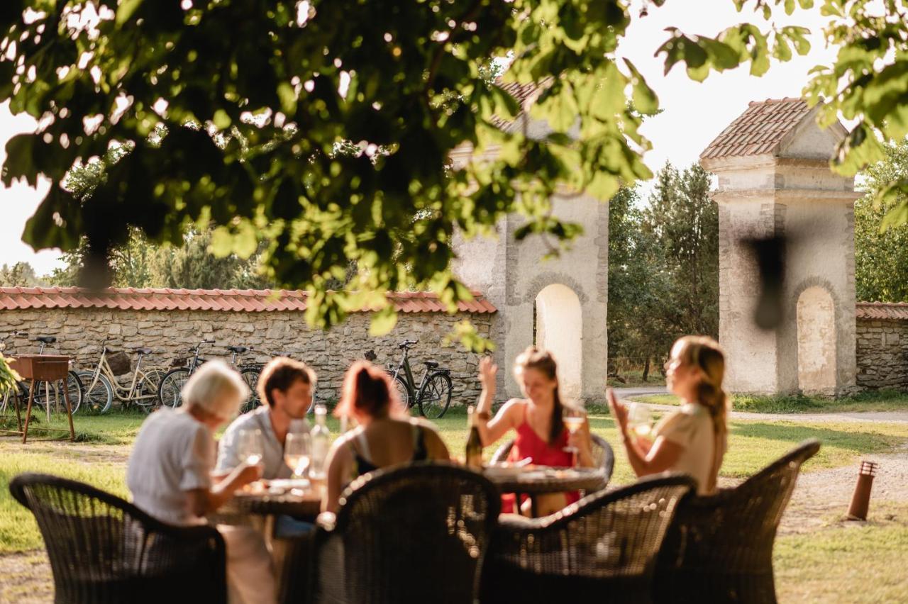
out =
[[(108, 358), (108, 354), (110, 357)], [(101, 356), (98, 358), (94, 370), (82, 370), (79, 377), (84, 378), (84, 404), (94, 414), (105, 414), (114, 403), (114, 396), (123, 409), (136, 406), (144, 414), (150, 414), (157, 406), (158, 385), (167, 373), (160, 367), (142, 369), (142, 360), (145, 356), (153, 354), (151, 348), (133, 348), (133, 353), (138, 355), (135, 361), (135, 371), (132, 371), (129, 356), (126, 353), (114, 352), (107, 347), (107, 339), (101, 344)], [(133, 381), (129, 387), (120, 385), (117, 375), (133, 374)]]

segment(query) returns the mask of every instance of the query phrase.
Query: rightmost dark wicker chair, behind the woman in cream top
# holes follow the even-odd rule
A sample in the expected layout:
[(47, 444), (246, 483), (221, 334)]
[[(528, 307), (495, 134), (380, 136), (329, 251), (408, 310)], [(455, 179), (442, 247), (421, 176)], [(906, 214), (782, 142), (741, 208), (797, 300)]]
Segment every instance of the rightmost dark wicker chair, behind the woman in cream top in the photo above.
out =
[(802, 443), (733, 489), (686, 498), (656, 568), (659, 602), (775, 602), (773, 542), (801, 464), (820, 443)]

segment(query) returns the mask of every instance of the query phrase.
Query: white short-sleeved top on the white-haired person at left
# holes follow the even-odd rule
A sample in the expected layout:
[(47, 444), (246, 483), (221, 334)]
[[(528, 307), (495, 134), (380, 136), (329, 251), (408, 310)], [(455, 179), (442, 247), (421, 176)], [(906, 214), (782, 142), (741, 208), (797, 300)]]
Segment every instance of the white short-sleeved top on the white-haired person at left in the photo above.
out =
[(205, 424), (185, 411), (166, 407), (142, 424), (126, 468), (133, 503), (171, 524), (204, 524), (192, 514), (188, 491), (210, 489), (214, 440)]

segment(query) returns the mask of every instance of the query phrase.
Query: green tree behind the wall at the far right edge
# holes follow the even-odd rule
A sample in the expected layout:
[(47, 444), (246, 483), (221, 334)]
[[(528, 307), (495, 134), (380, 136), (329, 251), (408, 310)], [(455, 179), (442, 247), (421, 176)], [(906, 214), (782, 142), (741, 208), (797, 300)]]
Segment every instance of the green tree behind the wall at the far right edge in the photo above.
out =
[(885, 159), (864, 170), (868, 191), (854, 202), (854, 285), (857, 299), (908, 302), (908, 225), (880, 232), (884, 217), (905, 201), (905, 193), (877, 200), (873, 191), (908, 177), (908, 141), (886, 144)]

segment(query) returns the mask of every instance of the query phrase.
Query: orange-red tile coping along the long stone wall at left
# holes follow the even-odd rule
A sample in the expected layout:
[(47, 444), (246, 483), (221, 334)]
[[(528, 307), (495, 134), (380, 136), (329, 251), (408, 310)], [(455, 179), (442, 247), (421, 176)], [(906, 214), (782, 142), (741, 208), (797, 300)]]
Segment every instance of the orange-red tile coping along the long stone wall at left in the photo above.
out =
[[(473, 300), (459, 302), (467, 313), (494, 313), (496, 308), (479, 292)], [(434, 293), (390, 292), (398, 312), (441, 313), (447, 307)], [(136, 287), (0, 287), (0, 309), (112, 308), (118, 310), (217, 310), (274, 312), (305, 310), (306, 292), (289, 289), (152, 289)], [(363, 310), (370, 310), (364, 308)]]

